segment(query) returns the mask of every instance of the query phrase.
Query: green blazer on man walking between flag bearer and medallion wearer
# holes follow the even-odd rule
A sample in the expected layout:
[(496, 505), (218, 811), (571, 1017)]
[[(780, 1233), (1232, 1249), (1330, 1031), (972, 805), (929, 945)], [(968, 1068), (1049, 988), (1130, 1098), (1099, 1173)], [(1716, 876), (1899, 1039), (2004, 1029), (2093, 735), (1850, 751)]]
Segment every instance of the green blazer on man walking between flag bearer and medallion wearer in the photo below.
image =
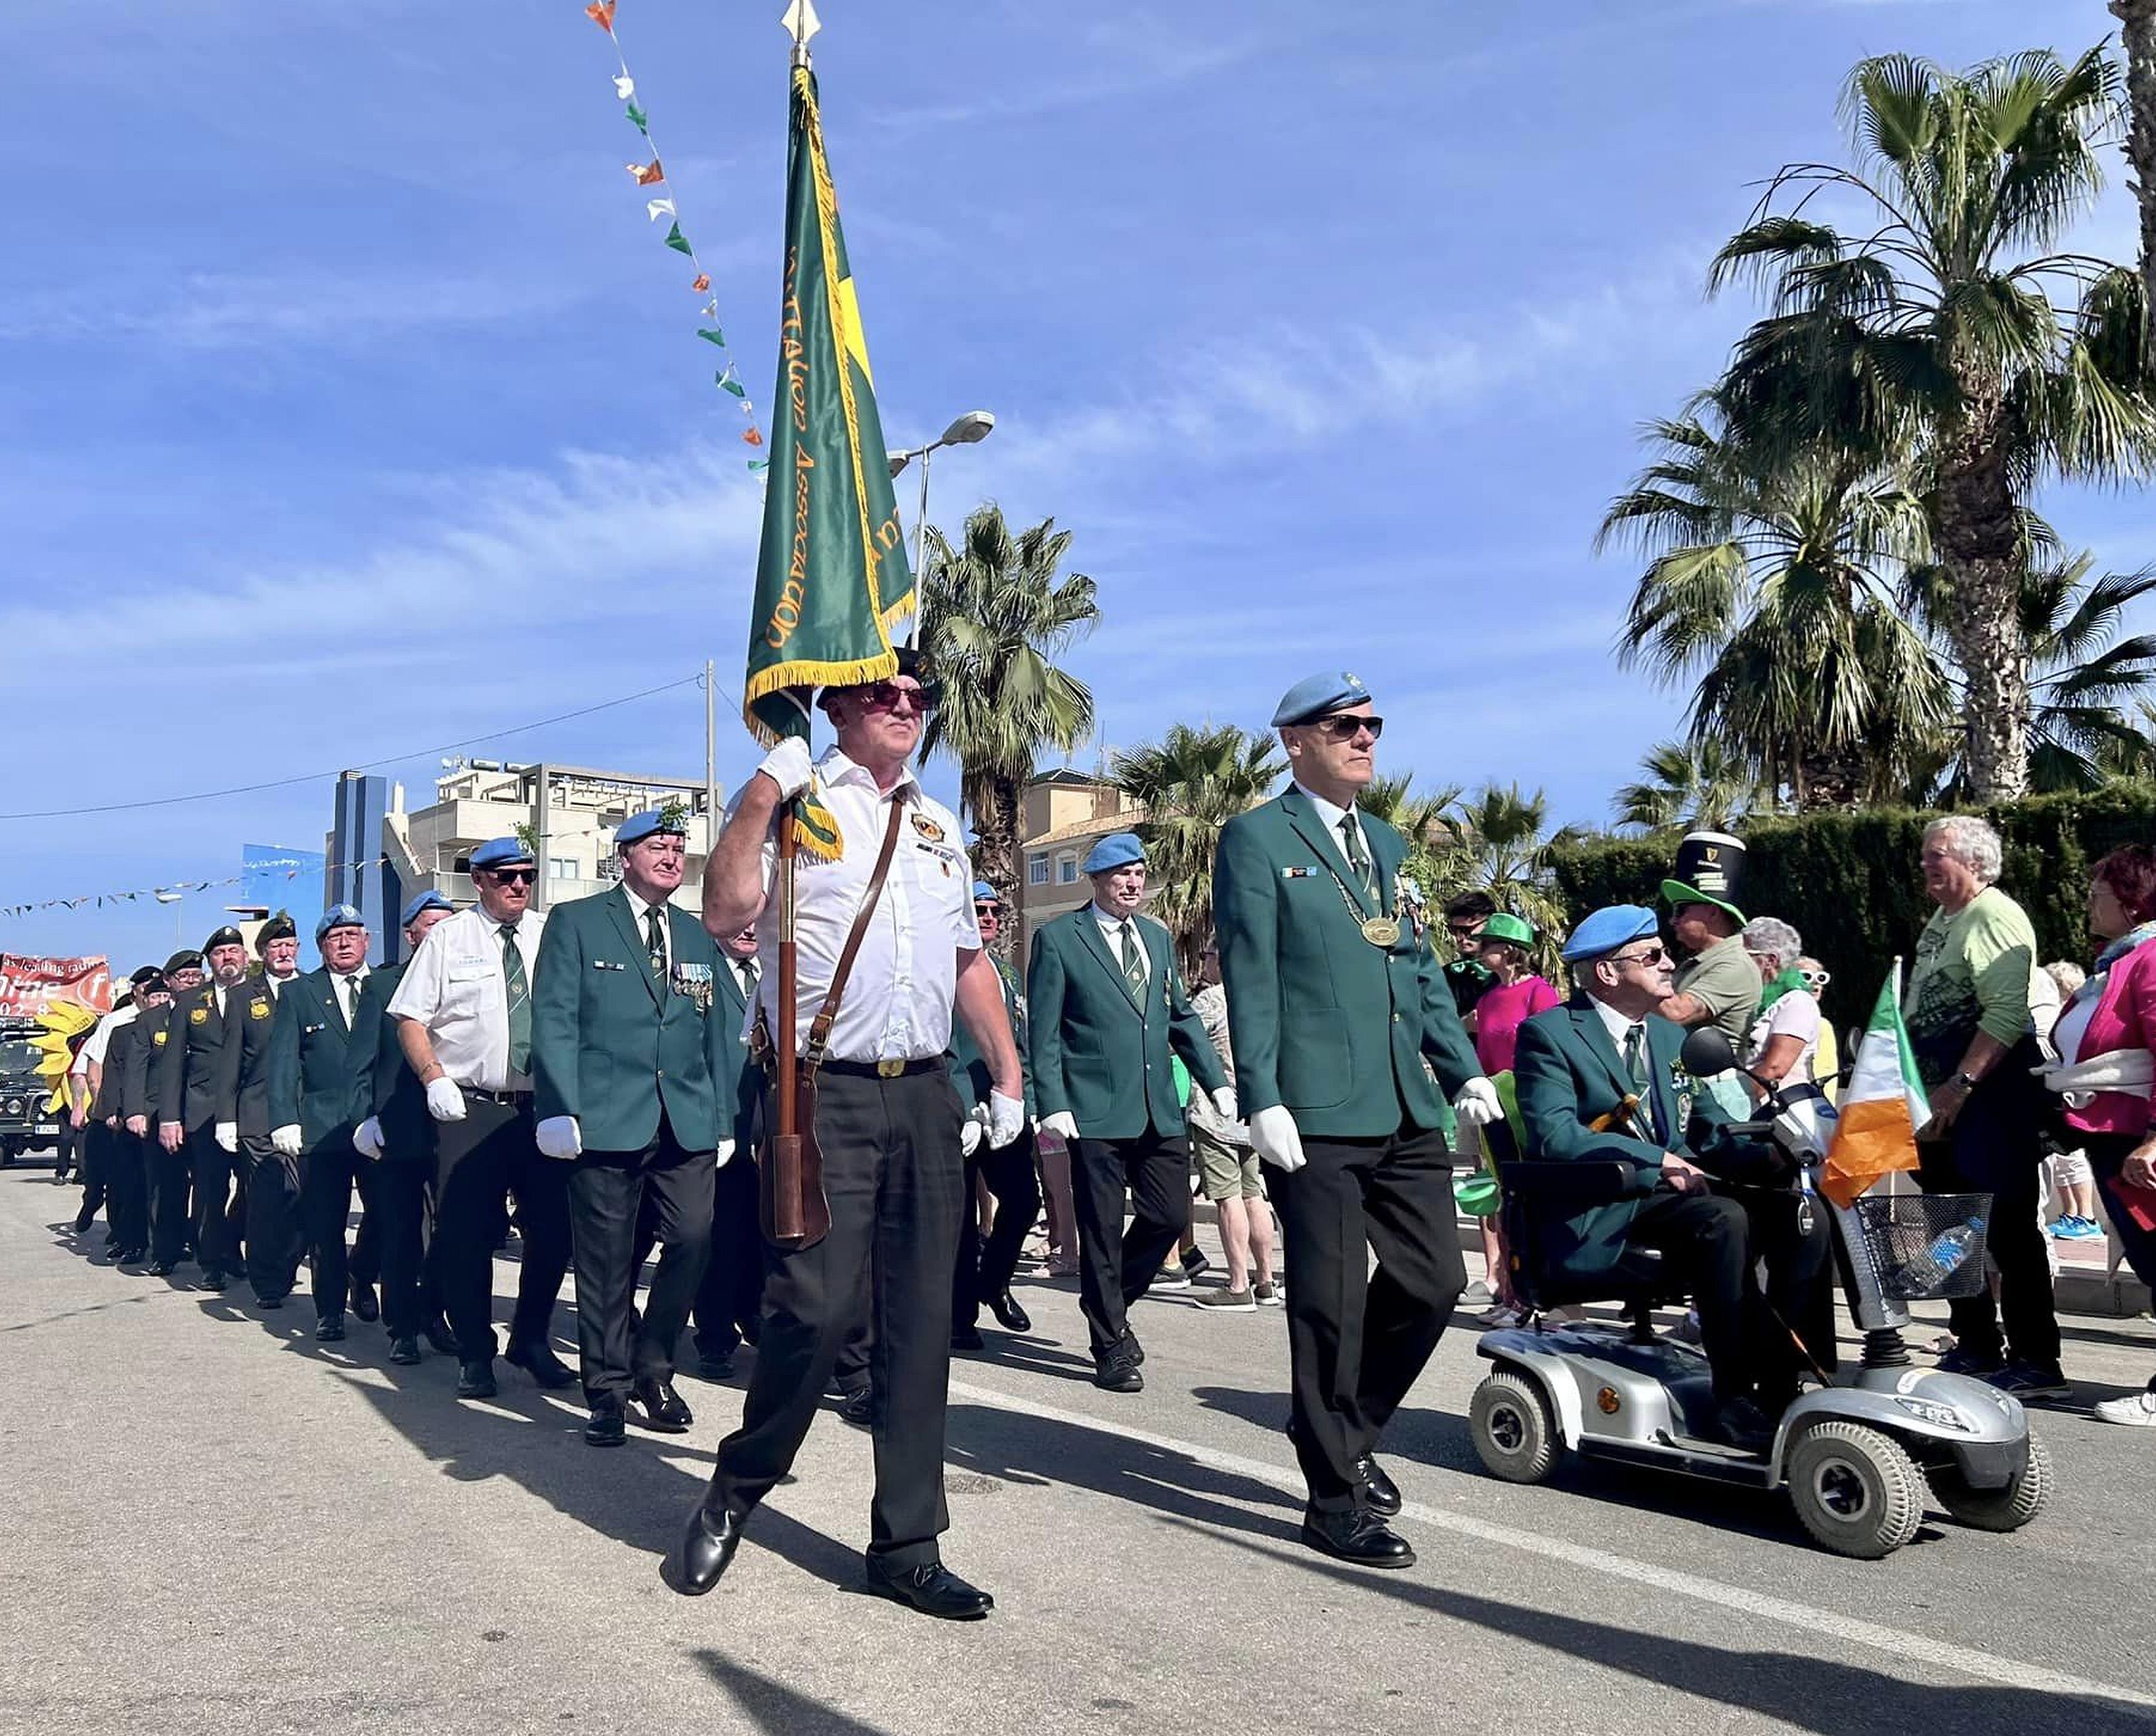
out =
[(1147, 960), (1143, 1007), (1091, 904), (1033, 936), (1026, 968), (1033, 1098), (1041, 1115), (1072, 1115), (1080, 1139), (1141, 1139), (1147, 1128), (1181, 1134), (1171, 1050), (1184, 1057), (1194, 1089), (1227, 1085), (1212, 1037), (1184, 994), (1169, 932), (1138, 917), (1138, 938)]

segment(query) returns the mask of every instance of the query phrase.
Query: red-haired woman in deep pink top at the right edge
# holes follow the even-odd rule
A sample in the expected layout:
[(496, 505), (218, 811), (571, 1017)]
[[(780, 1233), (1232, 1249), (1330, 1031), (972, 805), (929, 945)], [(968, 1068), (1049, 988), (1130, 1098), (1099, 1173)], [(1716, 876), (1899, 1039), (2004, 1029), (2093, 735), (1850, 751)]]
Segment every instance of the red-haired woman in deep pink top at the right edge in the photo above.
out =
[[(2089, 876), (2089, 932), (2102, 942), (2089, 979), (2059, 1014), (2059, 1063), (2044, 1085), (2065, 1100), (2065, 1121), (2087, 1143), (2096, 1186), (2126, 1259), (2156, 1285), (2156, 850), (2128, 843)], [(2156, 1380), (2104, 1400), (2106, 1423), (2156, 1428)]]

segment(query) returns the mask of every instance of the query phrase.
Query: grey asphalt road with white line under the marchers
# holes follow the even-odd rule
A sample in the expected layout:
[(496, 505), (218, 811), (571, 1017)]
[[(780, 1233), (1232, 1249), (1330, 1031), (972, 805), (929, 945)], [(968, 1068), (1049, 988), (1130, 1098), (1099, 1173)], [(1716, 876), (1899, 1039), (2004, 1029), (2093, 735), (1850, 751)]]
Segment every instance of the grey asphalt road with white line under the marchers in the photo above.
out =
[[(1035, 1331), (983, 1322), (953, 1365), (944, 1559), (996, 1613), (946, 1626), (858, 1589), (871, 1441), (832, 1415), (722, 1585), (677, 1598), (658, 1557), (740, 1378), (681, 1382), (692, 1434), (599, 1453), (515, 1372), (457, 1404), (455, 1363), (388, 1367), (379, 1326), (315, 1346), (304, 1300), (112, 1270), (75, 1203), (0, 1173), (6, 1736), (2156, 1730), (2156, 1436), (2087, 1415), (2156, 1367), (2147, 1320), (2065, 1322), (2035, 1525), (1934, 1512), (1876, 1563), (1779, 1497), (1485, 1477), (1460, 1326), (1384, 1443), (1421, 1561), (1380, 1574), (1296, 1542), (1281, 1311), (1141, 1303), (1123, 1397), (1084, 1378), (1074, 1285), (1024, 1281)], [(556, 1331), (573, 1356), (567, 1303)]]

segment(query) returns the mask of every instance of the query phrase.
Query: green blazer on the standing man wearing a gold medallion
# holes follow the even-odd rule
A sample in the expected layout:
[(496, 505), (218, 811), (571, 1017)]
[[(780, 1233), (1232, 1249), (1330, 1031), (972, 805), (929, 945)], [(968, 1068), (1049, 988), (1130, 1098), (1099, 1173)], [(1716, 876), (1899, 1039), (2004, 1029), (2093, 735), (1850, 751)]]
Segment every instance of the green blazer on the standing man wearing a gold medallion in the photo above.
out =
[(1442, 1128), (1451, 1098), (1481, 1074), (1427, 942), (1406, 921), (1391, 947), (1363, 938), (1363, 919), (1399, 908), (1408, 845), (1382, 819), (1360, 819), (1378, 904), (1294, 787), (1229, 819), (1214, 858), (1235, 1096), (1244, 1117), (1285, 1104), (1317, 1139)]

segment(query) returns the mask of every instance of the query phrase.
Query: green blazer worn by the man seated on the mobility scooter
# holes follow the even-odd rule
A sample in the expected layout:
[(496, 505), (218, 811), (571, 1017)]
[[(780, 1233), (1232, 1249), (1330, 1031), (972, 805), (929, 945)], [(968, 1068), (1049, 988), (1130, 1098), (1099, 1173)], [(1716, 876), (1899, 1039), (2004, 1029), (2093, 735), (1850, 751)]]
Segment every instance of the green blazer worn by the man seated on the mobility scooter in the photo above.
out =
[[(1546, 1257), (1574, 1277), (1595, 1277), (1617, 1264), (1641, 1199), (1660, 1184), (1664, 1152), (1690, 1154), (1695, 1139), (1729, 1124), (1714, 1098), (1684, 1076), (1677, 1065), (1682, 1048), (1684, 1027), (1649, 1014), (1649, 1098), (1662, 1130), (1662, 1139), (1651, 1141), (1632, 1130), (1593, 1132), (1589, 1126), (1632, 1093), (1632, 1074), (1585, 994), (1574, 994), (1563, 1007), (1535, 1014), (1520, 1027), (1511, 1078), (1520, 1098), (1522, 1156), (1542, 1162), (1617, 1158), (1641, 1171), (1634, 1197), (1589, 1205), (1563, 1225), (1548, 1227)], [(1641, 1111), (1645, 1113), (1645, 1102)]]

